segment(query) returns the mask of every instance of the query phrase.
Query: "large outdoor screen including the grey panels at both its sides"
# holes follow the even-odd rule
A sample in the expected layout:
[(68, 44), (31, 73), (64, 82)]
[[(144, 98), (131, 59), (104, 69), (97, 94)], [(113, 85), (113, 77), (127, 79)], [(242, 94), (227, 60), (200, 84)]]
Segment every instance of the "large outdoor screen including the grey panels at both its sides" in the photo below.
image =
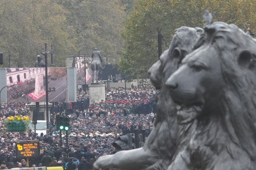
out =
[[(76, 102), (76, 68), (50, 67), (48, 102)], [(45, 68), (0, 68), (0, 102), (46, 102)]]

